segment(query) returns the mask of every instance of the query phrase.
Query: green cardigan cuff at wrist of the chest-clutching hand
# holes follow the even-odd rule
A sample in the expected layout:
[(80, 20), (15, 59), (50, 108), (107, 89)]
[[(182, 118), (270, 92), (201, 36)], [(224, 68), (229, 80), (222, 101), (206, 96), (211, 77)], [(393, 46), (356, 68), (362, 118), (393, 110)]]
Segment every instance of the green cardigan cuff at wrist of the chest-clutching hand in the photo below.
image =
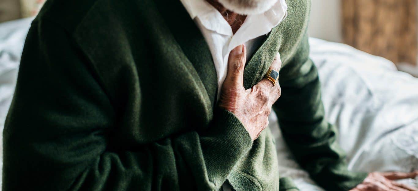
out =
[(215, 108), (212, 125), (201, 136), (201, 146), (209, 180), (222, 186), (232, 168), (250, 151), (252, 139), (233, 113)]

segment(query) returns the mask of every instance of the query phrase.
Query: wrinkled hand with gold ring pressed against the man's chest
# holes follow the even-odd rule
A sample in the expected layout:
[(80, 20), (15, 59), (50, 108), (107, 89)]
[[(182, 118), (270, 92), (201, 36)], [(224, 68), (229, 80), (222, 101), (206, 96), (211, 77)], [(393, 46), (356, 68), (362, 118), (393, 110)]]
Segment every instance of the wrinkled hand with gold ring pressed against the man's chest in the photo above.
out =
[[(222, 85), (219, 107), (234, 113), (242, 122), (254, 141), (268, 126), (271, 106), (280, 97), (280, 85), (263, 78), (252, 88), (244, 88), (244, 66), (246, 62), (245, 45), (239, 45), (229, 53), (228, 73)], [(280, 55), (273, 61), (270, 69), (279, 71)]]

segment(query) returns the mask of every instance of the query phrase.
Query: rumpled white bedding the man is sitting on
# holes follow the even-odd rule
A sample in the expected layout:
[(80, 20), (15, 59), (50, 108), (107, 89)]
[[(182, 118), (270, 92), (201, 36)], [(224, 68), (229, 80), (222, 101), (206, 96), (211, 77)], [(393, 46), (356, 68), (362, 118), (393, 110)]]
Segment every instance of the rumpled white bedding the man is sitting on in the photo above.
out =
[[(1, 130), (31, 20), (0, 24)], [(347, 151), (349, 168), (370, 172), (417, 170), (418, 78), (397, 71), (389, 60), (348, 45), (315, 38), (310, 44), (325, 111), (330, 123), (339, 129), (338, 141)], [(273, 114), (270, 128), (276, 137), (281, 175), (292, 177), (301, 191), (323, 191), (293, 160)], [(413, 179), (405, 182), (418, 186)]]

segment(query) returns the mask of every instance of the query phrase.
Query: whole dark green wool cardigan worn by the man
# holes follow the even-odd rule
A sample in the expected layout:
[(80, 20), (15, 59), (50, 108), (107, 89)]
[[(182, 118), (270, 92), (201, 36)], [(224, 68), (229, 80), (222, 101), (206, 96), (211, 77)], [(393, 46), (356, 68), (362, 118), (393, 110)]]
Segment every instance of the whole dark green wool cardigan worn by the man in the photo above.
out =
[[(320, 186), (347, 191), (366, 174), (347, 170), (324, 118), (308, 58), (310, 1), (287, 3), (288, 17), (245, 67), (245, 88), (280, 52), (274, 110), (285, 141)], [(216, 106), (216, 76), (178, 0), (48, 0), (5, 122), (3, 191), (217, 191), (225, 181), (237, 191), (297, 190), (279, 179), (270, 130), (252, 142)]]

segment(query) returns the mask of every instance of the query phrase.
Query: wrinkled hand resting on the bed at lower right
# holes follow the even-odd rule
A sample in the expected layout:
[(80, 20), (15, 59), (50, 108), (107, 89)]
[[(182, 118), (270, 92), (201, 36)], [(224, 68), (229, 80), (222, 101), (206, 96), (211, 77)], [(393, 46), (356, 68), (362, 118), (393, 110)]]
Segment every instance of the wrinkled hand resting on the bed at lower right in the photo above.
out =
[(399, 173), (399, 172), (373, 172), (364, 179), (363, 183), (357, 185), (350, 191), (418, 191), (418, 188), (413, 188), (404, 185), (394, 180), (405, 178), (415, 178), (418, 176), (418, 171), (413, 173)]

